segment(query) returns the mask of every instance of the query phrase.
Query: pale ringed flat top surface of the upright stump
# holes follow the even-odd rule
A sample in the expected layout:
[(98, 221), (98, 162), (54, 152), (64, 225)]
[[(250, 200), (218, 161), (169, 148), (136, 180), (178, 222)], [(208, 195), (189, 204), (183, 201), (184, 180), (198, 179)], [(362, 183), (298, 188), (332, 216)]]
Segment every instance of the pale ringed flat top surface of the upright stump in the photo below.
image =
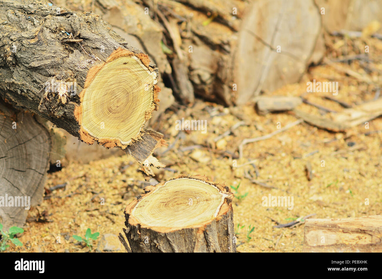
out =
[(167, 181), (139, 200), (130, 218), (162, 232), (199, 227), (217, 217), (226, 197), (204, 181), (179, 178)]

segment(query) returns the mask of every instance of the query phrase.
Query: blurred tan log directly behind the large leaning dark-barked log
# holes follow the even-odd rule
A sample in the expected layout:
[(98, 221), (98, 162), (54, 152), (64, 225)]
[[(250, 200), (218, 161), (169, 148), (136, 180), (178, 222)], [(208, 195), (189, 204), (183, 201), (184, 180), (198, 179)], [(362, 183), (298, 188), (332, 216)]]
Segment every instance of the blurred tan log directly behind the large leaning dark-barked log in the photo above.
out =
[(159, 92), (160, 107), (153, 112), (150, 122), (164, 112), (174, 103), (171, 88), (165, 87), (161, 75), (170, 75), (172, 72), (167, 56), (162, 51), (163, 27), (149, 14), (143, 6), (131, 0), (54, 0), (58, 6), (64, 6), (77, 12), (99, 14), (103, 20), (110, 23), (114, 31), (129, 44), (148, 53), (150, 60), (160, 69), (157, 85), (162, 88)]

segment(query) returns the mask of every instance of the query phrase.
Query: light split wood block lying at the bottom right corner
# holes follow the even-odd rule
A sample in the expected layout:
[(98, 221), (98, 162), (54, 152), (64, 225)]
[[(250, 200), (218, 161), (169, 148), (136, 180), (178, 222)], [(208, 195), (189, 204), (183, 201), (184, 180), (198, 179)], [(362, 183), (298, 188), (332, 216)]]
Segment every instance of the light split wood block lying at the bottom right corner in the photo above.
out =
[(382, 216), (306, 219), (303, 252), (382, 252)]

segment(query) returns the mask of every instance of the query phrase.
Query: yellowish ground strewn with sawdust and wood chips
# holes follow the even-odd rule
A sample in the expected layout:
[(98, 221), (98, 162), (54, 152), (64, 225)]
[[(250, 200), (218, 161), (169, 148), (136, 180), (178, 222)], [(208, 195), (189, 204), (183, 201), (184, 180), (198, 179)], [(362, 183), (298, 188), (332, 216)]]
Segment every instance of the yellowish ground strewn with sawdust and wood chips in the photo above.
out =
[[(341, 40), (343, 42), (341, 42)], [(369, 77), (380, 84), (382, 53), (380, 40), (369, 38), (369, 54), (377, 61), (367, 66), (361, 61), (336, 65)], [(362, 49), (359, 40), (332, 38), (327, 57), (335, 59), (344, 53)], [(354, 54), (357, 54), (355, 52)], [(338, 96), (332, 93), (310, 93), (304, 98), (311, 103), (342, 111), (338, 103), (324, 99), (332, 96), (356, 105), (374, 98), (377, 87), (330, 65), (312, 66), (301, 82), (286, 85), (267, 95), (301, 96), (306, 82), (338, 81)], [(314, 115), (325, 113), (315, 106), (301, 104), (298, 109)], [(178, 131), (175, 121), (207, 120), (207, 132)], [(346, 218), (382, 214), (382, 118), (358, 125), (343, 133), (319, 129), (300, 123), (271, 138), (249, 143), (238, 158), (238, 146), (244, 138), (267, 135), (297, 119), (292, 113), (259, 115), (253, 104), (228, 108), (198, 100), (193, 107), (172, 107), (153, 125), (162, 132), (169, 146), (157, 149), (155, 155), (166, 168), (155, 170), (159, 182), (179, 174), (202, 174), (210, 180), (237, 186), (241, 200), (234, 199), (234, 221), (238, 252), (301, 252), (304, 225), (274, 228), (275, 221), (284, 224), (299, 217)], [(236, 123), (243, 125), (215, 142)], [(251, 162), (250, 164), (247, 164)], [(309, 181), (306, 164), (312, 168)], [(105, 234), (122, 232), (123, 210), (147, 185), (139, 164), (132, 157), (110, 157), (87, 165), (70, 162), (59, 172), (49, 173), (46, 189), (67, 183), (65, 188), (45, 193), (39, 207), (31, 208), (19, 252), (87, 252), (73, 238), (83, 236), (87, 228)], [(248, 179), (252, 178), (252, 179)], [(256, 183), (253, 183), (256, 180)], [(252, 181), (252, 182), (251, 182)], [(247, 194), (248, 193), (248, 194)], [(262, 197), (293, 196), (293, 209), (262, 206)], [(104, 202), (103, 202), (104, 201)], [(368, 201), (368, 202), (367, 202)], [(40, 220), (39, 220), (40, 219)], [(275, 221), (272, 221), (275, 220)], [(254, 230), (247, 238), (249, 227)], [(94, 247), (97, 247), (98, 240)], [(120, 250), (124, 252), (124, 250)]]

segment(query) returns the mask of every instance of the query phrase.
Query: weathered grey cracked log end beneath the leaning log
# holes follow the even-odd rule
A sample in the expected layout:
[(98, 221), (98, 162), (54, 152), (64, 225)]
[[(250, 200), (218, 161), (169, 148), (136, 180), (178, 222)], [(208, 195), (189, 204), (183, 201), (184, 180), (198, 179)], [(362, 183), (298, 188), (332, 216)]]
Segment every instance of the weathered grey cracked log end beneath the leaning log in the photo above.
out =
[(23, 226), (29, 208), (42, 202), (50, 149), (45, 125), (0, 99), (0, 223), (5, 229)]

